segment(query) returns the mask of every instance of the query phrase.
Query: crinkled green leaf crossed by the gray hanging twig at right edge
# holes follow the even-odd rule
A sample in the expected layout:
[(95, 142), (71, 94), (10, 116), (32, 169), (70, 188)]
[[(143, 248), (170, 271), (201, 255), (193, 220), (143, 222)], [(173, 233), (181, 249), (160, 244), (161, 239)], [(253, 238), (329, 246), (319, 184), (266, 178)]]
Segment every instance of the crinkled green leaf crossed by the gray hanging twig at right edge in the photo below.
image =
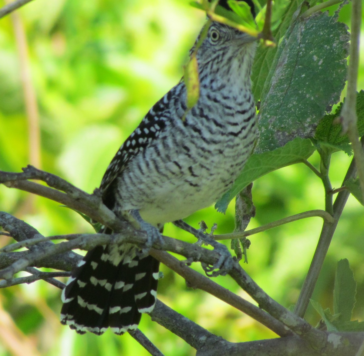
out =
[[(344, 99), (345, 103), (345, 99)], [(342, 135), (342, 127), (339, 123), (339, 117), (344, 104), (340, 103), (335, 113), (325, 115), (317, 125), (315, 139), (332, 145), (333, 149), (348, 152), (349, 137), (347, 134)], [(364, 135), (364, 91), (361, 90), (356, 96), (356, 114), (357, 127), (359, 136)]]

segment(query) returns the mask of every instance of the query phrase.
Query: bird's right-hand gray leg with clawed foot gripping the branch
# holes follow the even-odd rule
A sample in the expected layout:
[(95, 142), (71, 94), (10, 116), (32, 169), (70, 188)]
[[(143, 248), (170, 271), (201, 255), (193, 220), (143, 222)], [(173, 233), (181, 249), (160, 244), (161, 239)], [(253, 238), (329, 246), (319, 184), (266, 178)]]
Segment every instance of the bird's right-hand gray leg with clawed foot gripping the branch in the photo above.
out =
[(185, 231), (188, 231), (189, 233), (197, 237), (199, 241), (203, 241), (203, 243), (205, 243), (206, 245), (211, 245), (214, 248), (214, 251), (219, 253), (220, 257), (214, 265), (206, 265), (204, 263), (201, 263), (202, 268), (207, 276), (225, 276), (227, 273), (229, 273), (229, 271), (233, 267), (233, 258), (225, 245), (215, 241), (211, 237), (212, 233), (216, 228), (215, 225), (213, 228), (211, 228), (211, 233), (208, 234), (203, 232), (205, 229), (194, 229), (183, 220), (173, 221), (173, 224)]

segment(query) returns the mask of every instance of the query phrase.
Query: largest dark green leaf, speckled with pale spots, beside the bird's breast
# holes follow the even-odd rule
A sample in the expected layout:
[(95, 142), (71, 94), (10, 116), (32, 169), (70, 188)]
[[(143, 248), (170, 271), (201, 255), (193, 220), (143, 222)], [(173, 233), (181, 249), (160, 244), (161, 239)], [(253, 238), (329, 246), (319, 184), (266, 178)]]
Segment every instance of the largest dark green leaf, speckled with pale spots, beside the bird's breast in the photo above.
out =
[(260, 151), (313, 137), (344, 88), (348, 40), (346, 25), (327, 13), (297, 17), (278, 45), (261, 93)]

